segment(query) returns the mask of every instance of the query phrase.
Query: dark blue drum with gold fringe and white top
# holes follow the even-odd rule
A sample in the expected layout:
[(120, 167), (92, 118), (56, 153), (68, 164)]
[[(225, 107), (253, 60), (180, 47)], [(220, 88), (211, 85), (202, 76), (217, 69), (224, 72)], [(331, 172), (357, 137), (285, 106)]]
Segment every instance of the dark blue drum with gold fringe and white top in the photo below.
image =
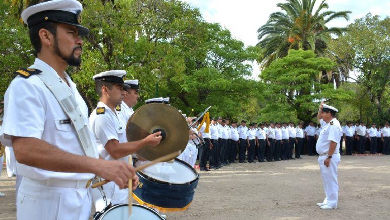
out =
[[(136, 167), (143, 162), (137, 161)], [(161, 212), (186, 210), (195, 194), (199, 175), (182, 160), (157, 163), (138, 171), (140, 179), (133, 198), (141, 205)]]

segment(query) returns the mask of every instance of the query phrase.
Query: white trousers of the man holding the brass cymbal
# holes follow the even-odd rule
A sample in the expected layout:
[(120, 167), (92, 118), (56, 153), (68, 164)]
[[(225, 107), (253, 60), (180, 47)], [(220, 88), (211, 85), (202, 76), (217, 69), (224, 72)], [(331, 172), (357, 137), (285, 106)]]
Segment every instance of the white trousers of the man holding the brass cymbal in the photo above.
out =
[[(128, 203), (127, 188), (121, 190), (119, 186), (115, 184), (115, 182), (108, 182), (107, 184), (103, 185), (103, 190), (107, 199), (107, 205), (110, 204), (110, 202), (113, 205)], [(106, 201), (104, 201), (102, 193), (98, 188), (91, 188), (91, 192), (96, 211), (102, 211), (104, 208), (106, 208)]]

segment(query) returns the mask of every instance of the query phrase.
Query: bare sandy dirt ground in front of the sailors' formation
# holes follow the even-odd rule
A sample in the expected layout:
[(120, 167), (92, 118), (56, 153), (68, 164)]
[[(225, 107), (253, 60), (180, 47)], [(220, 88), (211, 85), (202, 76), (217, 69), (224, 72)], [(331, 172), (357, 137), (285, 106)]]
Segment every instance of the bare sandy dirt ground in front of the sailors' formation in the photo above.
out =
[[(339, 204), (321, 210), (324, 198), (317, 157), (232, 164), (199, 172), (187, 211), (167, 219), (390, 219), (390, 156), (342, 156)], [(15, 219), (15, 177), (0, 178), (0, 219)]]

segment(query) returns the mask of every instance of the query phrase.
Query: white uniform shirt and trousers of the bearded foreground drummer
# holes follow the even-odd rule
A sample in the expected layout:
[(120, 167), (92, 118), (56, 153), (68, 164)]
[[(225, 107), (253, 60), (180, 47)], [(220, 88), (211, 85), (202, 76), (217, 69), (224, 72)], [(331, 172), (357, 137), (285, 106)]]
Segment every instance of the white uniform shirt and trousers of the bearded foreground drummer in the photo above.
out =
[[(36, 69), (49, 72), (63, 82), (57, 72), (42, 60), (36, 58), (34, 65)], [(64, 78), (88, 124), (87, 105), (71, 78), (67, 74)], [(63, 151), (85, 155), (68, 116), (36, 75), (27, 79), (15, 77), (5, 93), (0, 141), (6, 146), (12, 146), (11, 136), (41, 139)], [(94, 139), (91, 142), (96, 144)], [(23, 176), (17, 194), (18, 219), (89, 218), (90, 195), (84, 186), (93, 178), (93, 174), (53, 172), (20, 163), (16, 163), (16, 170), (18, 175)], [(75, 188), (57, 187), (58, 184), (73, 185), (72, 182)], [(83, 188), (76, 188), (81, 185), (84, 185)]]

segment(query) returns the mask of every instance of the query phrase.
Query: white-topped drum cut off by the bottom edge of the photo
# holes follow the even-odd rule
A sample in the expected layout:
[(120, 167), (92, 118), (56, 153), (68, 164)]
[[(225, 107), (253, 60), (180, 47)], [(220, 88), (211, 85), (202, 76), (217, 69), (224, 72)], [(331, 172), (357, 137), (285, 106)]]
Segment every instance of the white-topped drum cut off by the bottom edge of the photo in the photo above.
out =
[(94, 220), (165, 220), (163, 216), (158, 214), (151, 208), (132, 204), (132, 215), (128, 218), (128, 204), (118, 204), (110, 208), (106, 208), (101, 213), (98, 213), (93, 218)]

